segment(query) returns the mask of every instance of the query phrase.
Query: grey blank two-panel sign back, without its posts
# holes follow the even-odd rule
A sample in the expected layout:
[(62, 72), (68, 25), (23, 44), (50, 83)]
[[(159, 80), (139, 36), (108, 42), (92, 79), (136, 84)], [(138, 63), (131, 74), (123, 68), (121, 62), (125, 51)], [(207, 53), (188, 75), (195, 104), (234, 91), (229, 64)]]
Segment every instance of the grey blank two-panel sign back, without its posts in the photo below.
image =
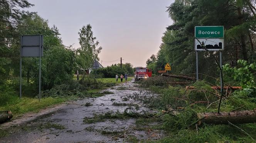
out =
[[(40, 41), (41, 37), (41, 41)], [(22, 57), (39, 57), (41, 46), (41, 56), (43, 56), (43, 35), (23, 35), (21, 37), (21, 56)], [(41, 44), (41, 45), (40, 45)]]

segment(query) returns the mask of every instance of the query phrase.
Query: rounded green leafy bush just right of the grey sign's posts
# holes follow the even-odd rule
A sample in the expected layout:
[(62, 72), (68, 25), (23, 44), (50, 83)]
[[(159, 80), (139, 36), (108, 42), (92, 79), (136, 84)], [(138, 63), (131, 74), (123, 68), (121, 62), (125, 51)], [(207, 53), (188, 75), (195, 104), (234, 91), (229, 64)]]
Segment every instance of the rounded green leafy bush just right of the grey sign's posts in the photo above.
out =
[[(61, 64), (60, 64), (61, 63)], [(70, 48), (54, 46), (42, 58), (42, 87), (51, 89), (54, 84), (62, 84), (74, 75), (75, 54)]]

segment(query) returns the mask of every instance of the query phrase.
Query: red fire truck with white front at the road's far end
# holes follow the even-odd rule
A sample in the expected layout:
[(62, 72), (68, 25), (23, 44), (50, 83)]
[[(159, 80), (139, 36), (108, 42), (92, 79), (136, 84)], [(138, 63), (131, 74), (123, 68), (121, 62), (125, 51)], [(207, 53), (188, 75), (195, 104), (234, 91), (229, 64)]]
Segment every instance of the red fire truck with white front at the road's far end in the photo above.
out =
[(152, 70), (146, 67), (137, 67), (134, 72), (135, 81), (152, 77)]

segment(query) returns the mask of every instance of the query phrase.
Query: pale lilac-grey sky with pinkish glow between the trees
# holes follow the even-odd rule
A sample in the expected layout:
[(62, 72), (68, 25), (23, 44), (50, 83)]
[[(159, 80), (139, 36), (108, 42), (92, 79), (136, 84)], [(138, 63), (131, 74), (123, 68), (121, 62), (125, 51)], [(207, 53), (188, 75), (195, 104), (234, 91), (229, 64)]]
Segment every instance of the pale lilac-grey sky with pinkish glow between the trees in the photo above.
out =
[[(78, 31), (91, 24), (94, 36), (103, 47), (99, 62), (108, 66), (130, 62), (146, 66), (157, 54), (165, 28), (172, 24), (166, 7), (174, 0), (28, 0), (30, 12), (56, 25), (63, 44), (79, 48)], [(116, 61), (115, 61), (116, 60)], [(115, 62), (109, 62), (115, 61)]]

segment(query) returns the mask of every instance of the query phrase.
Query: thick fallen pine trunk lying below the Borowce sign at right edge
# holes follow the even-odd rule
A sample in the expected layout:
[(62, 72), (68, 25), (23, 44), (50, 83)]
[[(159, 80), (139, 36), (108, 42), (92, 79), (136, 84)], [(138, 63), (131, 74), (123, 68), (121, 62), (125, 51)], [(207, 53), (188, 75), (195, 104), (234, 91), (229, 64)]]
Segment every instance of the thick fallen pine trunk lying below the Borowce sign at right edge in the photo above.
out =
[(234, 112), (221, 112), (221, 113), (198, 113), (197, 117), (202, 119), (198, 122), (198, 125), (202, 123), (207, 124), (233, 124), (240, 123), (255, 123), (256, 122), (256, 110), (253, 111), (234, 111)]

